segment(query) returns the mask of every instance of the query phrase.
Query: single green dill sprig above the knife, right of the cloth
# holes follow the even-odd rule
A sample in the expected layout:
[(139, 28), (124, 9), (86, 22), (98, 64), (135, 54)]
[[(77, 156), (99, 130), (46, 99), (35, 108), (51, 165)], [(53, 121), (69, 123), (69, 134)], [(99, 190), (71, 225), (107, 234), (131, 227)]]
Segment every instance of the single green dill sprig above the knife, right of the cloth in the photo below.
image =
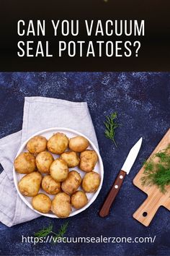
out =
[(117, 143), (115, 142), (115, 130), (120, 126), (120, 124), (117, 124), (116, 119), (117, 112), (110, 114), (110, 116), (106, 116), (106, 121), (104, 121), (104, 125), (106, 127), (104, 135), (107, 137), (107, 139), (112, 140), (112, 142), (114, 142), (115, 146), (117, 147)]

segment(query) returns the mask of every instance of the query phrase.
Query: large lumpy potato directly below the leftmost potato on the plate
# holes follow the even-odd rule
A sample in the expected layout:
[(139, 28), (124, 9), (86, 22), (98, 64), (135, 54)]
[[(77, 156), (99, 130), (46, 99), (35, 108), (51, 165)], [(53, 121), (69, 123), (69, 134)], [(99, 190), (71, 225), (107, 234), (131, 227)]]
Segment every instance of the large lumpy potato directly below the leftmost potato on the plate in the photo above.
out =
[(42, 176), (39, 172), (34, 171), (25, 175), (18, 184), (19, 191), (27, 197), (34, 197), (40, 190)]

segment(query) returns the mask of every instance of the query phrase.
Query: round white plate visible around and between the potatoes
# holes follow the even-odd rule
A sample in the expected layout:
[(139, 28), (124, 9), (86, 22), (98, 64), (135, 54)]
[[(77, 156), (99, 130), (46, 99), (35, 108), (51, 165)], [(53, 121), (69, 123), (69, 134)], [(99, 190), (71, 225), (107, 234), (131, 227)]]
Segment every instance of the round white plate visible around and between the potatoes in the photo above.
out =
[[(76, 132), (75, 130), (73, 129), (67, 129), (67, 128), (62, 128), (62, 127), (57, 127), (57, 128), (50, 128), (50, 129), (44, 129), (40, 132), (37, 132), (35, 135), (42, 135), (44, 137), (46, 137), (47, 139), (49, 139), (55, 132), (63, 132), (67, 135), (68, 138), (71, 138), (71, 137), (75, 137), (76, 135), (81, 135), (81, 136), (84, 136), (82, 135), (80, 132)], [(34, 137), (35, 135), (32, 135), (32, 137)], [(86, 136), (84, 136), (86, 137)], [(31, 138), (31, 137), (30, 137)], [(28, 140), (30, 140), (30, 138)], [(87, 140), (89, 140), (88, 137), (86, 137)], [(27, 145), (27, 142), (24, 142), (22, 144), (22, 146), (19, 148), (19, 151), (17, 153), (17, 155), (19, 155), (20, 153), (22, 152), (25, 152), (27, 151), (27, 148), (26, 148), (26, 145)], [(93, 142), (91, 142), (91, 140), (89, 140), (89, 148), (88, 149), (91, 149), (91, 150), (95, 150), (97, 155), (98, 155), (98, 158), (99, 160), (97, 161), (97, 164), (96, 166), (94, 167), (94, 171), (96, 171), (97, 173), (100, 174), (101, 176), (101, 182), (99, 184), (99, 188), (97, 189), (97, 192), (95, 193), (86, 193), (86, 196), (88, 197), (88, 203), (87, 205), (84, 206), (84, 208), (81, 208), (79, 210), (76, 210), (74, 208), (72, 208), (72, 211), (71, 211), (71, 214), (69, 217), (71, 216), (75, 216), (76, 214), (78, 213), (81, 213), (82, 211), (86, 210), (86, 208), (88, 208), (92, 202), (94, 202), (94, 200), (97, 198), (97, 195), (99, 194), (99, 191), (102, 187), (102, 183), (103, 183), (103, 176), (104, 176), (104, 168), (103, 168), (103, 163), (102, 163), (102, 158), (101, 156), (99, 155), (99, 151), (97, 150), (96, 146), (94, 145)], [(58, 158), (59, 155), (53, 155), (54, 158)], [(16, 156), (17, 157), (17, 156)], [(74, 168), (69, 168), (69, 171), (71, 170), (76, 170), (76, 171), (79, 171), (79, 174), (81, 175), (81, 178), (84, 177), (84, 175), (86, 174), (84, 171), (81, 171), (79, 169), (79, 167), (74, 167)], [(14, 176), (14, 184), (15, 184), (15, 187), (17, 189), (17, 192), (19, 194), (19, 197), (21, 197), (21, 199), (24, 201), (24, 203), (26, 203), (26, 205), (31, 208), (32, 210), (34, 210), (36, 213), (39, 213), (40, 215), (42, 216), (47, 216), (47, 217), (50, 217), (50, 218), (58, 218), (57, 216), (55, 216), (54, 213), (50, 212), (50, 213), (40, 213), (38, 212), (37, 210), (33, 209), (32, 208), (32, 204), (31, 204), (31, 201), (32, 201), (32, 197), (26, 197), (24, 195), (22, 195), (20, 192), (19, 192), (19, 189), (18, 189), (18, 182), (20, 179), (22, 179), (22, 177), (24, 176), (24, 174), (19, 174), (17, 173), (14, 168), (13, 168), (13, 176)], [(79, 189), (81, 189), (81, 187), (79, 187)], [(47, 193), (45, 193), (44, 190), (40, 189), (39, 192), (43, 192), (44, 194), (48, 195)], [(54, 195), (48, 195), (51, 199), (53, 199)]]

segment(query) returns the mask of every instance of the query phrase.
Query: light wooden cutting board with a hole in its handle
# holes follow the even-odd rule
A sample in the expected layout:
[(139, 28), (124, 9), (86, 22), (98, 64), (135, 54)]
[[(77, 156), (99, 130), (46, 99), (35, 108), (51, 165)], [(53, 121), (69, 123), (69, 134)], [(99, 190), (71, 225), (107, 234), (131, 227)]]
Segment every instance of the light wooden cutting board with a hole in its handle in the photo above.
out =
[[(166, 132), (166, 135), (164, 135), (161, 142), (158, 143), (156, 149), (150, 155), (150, 158), (152, 155), (159, 152), (160, 150), (164, 150), (165, 148), (167, 148), (169, 144), (170, 129), (168, 130), (168, 132)], [(143, 204), (140, 205), (140, 208), (138, 208), (138, 210), (136, 210), (136, 212), (133, 214), (133, 218), (142, 223), (144, 226), (148, 226), (160, 206), (164, 206), (165, 208), (170, 210), (170, 185), (166, 187), (166, 193), (162, 193), (156, 185), (143, 186), (141, 184), (141, 177), (143, 176), (143, 171), (144, 168), (142, 167), (138, 174), (135, 176), (135, 179), (133, 179), (133, 184), (141, 189), (143, 192), (145, 192), (148, 197), (143, 202)]]

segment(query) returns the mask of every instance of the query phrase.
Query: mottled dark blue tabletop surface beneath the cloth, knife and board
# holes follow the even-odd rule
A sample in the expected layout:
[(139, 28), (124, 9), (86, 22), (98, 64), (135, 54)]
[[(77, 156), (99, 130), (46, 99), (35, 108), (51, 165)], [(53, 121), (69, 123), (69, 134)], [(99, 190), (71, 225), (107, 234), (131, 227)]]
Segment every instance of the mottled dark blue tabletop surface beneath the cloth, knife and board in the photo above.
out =
[[(154, 244), (22, 244), (22, 235), (32, 236), (42, 226), (53, 223), (58, 231), (66, 220), (37, 218), (7, 228), (0, 223), (1, 255), (170, 255), (170, 213), (160, 208), (146, 228), (133, 219), (133, 213), (146, 195), (132, 180), (143, 160), (169, 128), (169, 73), (1, 73), (0, 137), (22, 128), (24, 96), (45, 96), (68, 101), (87, 101), (97, 132), (104, 162), (104, 183), (97, 200), (83, 213), (69, 218), (67, 236), (155, 236)], [(104, 137), (104, 116), (117, 111), (118, 148)], [(98, 210), (132, 145), (143, 136), (137, 161), (126, 177), (107, 218)]]

